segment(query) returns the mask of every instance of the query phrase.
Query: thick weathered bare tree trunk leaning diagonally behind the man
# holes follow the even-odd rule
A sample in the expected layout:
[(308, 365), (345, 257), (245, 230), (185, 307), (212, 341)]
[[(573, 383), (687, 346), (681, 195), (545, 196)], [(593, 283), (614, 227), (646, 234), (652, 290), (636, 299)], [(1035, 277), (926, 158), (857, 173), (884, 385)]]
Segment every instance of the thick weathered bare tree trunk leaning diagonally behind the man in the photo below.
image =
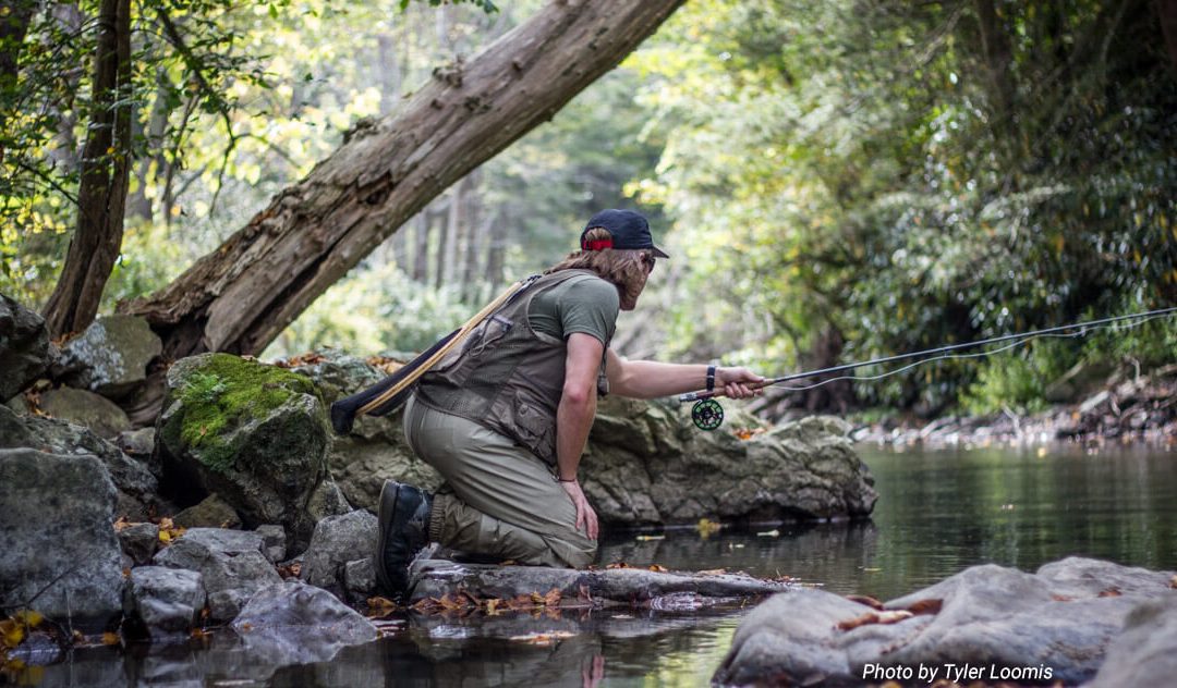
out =
[(556, 0), (361, 126), (219, 248), (124, 312), (165, 355), (254, 354), (454, 181), (552, 118), (683, 0)]

